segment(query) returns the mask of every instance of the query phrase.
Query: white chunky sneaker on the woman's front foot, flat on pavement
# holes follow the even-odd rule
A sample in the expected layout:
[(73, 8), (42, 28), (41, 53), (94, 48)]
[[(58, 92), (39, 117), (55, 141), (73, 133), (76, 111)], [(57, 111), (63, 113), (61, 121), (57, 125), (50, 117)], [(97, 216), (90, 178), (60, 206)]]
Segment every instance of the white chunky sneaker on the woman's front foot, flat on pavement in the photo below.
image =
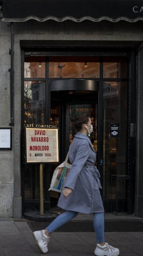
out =
[(118, 256), (119, 253), (120, 251), (118, 248), (114, 248), (113, 246), (108, 245), (108, 243), (105, 243), (104, 246), (97, 244), (94, 251), (96, 256)]

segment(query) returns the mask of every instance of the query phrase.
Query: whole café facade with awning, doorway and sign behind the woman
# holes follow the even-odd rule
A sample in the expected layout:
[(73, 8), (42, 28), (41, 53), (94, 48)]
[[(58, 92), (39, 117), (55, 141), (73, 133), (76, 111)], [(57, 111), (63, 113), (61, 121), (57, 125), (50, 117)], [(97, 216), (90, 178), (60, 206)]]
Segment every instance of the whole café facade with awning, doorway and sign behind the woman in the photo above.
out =
[(0, 217), (57, 205), (77, 114), (105, 212), (143, 217), (143, 1), (1, 0), (0, 46)]

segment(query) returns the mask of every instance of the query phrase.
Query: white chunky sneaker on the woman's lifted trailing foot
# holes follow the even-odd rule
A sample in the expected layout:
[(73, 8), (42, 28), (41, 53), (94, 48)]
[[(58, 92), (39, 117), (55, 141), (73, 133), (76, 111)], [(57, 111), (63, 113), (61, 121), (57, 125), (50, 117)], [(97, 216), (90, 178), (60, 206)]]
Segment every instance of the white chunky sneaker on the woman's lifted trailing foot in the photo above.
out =
[(34, 238), (36, 240), (36, 243), (38, 244), (39, 248), (43, 253), (48, 252), (48, 242), (49, 242), (49, 237), (45, 235), (45, 230), (39, 230), (39, 231), (34, 231), (33, 232)]

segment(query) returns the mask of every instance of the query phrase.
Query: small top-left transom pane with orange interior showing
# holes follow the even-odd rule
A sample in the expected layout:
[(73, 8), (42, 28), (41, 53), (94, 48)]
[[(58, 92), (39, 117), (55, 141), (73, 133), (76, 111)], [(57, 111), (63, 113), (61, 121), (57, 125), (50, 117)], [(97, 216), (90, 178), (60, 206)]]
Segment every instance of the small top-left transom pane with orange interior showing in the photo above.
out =
[(45, 57), (25, 57), (25, 78), (45, 78)]

